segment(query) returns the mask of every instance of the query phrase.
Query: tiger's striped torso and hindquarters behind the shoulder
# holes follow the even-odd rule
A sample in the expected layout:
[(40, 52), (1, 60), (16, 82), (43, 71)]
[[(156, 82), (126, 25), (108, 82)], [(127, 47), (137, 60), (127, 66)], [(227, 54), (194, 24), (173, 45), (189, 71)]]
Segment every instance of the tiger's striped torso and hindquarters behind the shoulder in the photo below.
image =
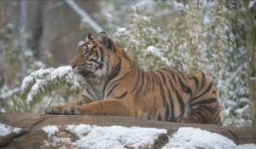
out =
[(136, 117), (172, 122), (221, 124), (215, 88), (203, 72), (138, 72), (134, 92)]

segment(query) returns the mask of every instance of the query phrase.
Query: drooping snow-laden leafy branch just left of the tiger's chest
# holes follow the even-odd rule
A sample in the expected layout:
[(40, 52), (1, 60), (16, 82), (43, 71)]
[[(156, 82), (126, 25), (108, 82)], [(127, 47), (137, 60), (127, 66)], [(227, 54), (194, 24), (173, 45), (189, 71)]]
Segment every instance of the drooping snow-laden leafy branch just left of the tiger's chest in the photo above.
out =
[(77, 93), (82, 87), (79, 76), (75, 75), (70, 66), (58, 68), (41, 68), (25, 77), (21, 84), (21, 92), (26, 95), (28, 106), (39, 96), (52, 92), (52, 89), (64, 88), (67, 92)]

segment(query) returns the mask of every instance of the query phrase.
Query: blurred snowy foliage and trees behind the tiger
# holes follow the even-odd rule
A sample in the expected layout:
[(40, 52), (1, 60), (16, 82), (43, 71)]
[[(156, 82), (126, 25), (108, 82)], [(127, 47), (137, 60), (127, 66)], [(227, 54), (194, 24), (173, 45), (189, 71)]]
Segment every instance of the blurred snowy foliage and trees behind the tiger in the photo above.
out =
[(255, 28), (255, 0), (2, 0), (0, 112), (43, 113), (77, 97), (83, 80), (68, 65), (88, 33), (104, 30), (145, 71), (206, 72), (224, 126), (250, 128)]

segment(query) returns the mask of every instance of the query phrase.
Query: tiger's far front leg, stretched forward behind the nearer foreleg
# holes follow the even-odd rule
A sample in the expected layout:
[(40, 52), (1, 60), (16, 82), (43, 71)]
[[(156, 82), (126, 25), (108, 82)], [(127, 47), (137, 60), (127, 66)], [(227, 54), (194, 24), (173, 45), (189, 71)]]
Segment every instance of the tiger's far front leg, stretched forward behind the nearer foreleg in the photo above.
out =
[(87, 103), (92, 102), (88, 97), (85, 95), (81, 95), (77, 100), (69, 101), (61, 106), (48, 106), (44, 109), (45, 114), (68, 114), (73, 107), (81, 106)]

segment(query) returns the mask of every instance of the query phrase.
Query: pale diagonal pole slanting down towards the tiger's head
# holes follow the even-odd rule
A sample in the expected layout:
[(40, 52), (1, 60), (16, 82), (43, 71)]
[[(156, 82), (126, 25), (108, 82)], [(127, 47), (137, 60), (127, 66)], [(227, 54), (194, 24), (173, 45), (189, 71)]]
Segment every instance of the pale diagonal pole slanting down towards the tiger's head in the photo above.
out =
[(65, 0), (66, 3), (72, 7), (72, 9), (80, 15), (80, 17), (82, 18), (81, 20), (85, 23), (88, 23), (88, 25), (90, 25), (90, 27), (95, 31), (95, 32), (102, 32), (103, 29), (101, 26), (99, 26), (96, 21), (92, 20), (90, 18), (90, 15), (87, 14), (83, 9), (81, 9), (79, 7), (79, 5), (77, 3), (75, 3), (73, 0)]

